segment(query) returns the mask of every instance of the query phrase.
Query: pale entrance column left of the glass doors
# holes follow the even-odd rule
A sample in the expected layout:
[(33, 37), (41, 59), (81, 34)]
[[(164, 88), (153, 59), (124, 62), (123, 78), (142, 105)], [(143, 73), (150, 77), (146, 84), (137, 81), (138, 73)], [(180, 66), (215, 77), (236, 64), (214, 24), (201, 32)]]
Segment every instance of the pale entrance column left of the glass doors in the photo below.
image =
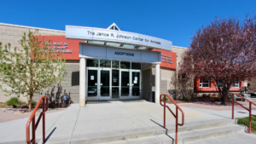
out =
[(86, 60), (85, 58), (80, 58), (80, 76), (79, 76), (79, 106), (85, 107), (85, 66)]

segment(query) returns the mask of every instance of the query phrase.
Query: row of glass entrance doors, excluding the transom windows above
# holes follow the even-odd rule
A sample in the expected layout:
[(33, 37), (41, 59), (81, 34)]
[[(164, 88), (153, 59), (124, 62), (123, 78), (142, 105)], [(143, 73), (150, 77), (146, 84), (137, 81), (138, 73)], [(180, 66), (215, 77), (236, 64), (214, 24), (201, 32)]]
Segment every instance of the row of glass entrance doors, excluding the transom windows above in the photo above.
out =
[(88, 67), (87, 100), (138, 99), (140, 70)]

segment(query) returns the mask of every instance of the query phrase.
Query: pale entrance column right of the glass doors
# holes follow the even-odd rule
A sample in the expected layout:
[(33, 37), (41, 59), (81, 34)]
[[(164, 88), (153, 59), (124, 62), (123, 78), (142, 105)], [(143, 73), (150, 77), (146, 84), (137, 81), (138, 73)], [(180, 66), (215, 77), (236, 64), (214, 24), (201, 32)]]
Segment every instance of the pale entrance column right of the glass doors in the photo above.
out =
[(160, 64), (156, 64), (156, 66), (155, 66), (154, 102), (160, 103)]

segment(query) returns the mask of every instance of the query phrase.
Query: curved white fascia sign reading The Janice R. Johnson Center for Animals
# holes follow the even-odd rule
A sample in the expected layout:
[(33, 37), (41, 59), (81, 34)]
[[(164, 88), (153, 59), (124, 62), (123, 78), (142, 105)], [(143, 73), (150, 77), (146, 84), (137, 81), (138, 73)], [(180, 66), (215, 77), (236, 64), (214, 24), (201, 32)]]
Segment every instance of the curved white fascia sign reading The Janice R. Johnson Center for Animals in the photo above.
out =
[(130, 43), (150, 48), (172, 50), (172, 42), (165, 39), (95, 27), (66, 26), (66, 37), (83, 40)]

